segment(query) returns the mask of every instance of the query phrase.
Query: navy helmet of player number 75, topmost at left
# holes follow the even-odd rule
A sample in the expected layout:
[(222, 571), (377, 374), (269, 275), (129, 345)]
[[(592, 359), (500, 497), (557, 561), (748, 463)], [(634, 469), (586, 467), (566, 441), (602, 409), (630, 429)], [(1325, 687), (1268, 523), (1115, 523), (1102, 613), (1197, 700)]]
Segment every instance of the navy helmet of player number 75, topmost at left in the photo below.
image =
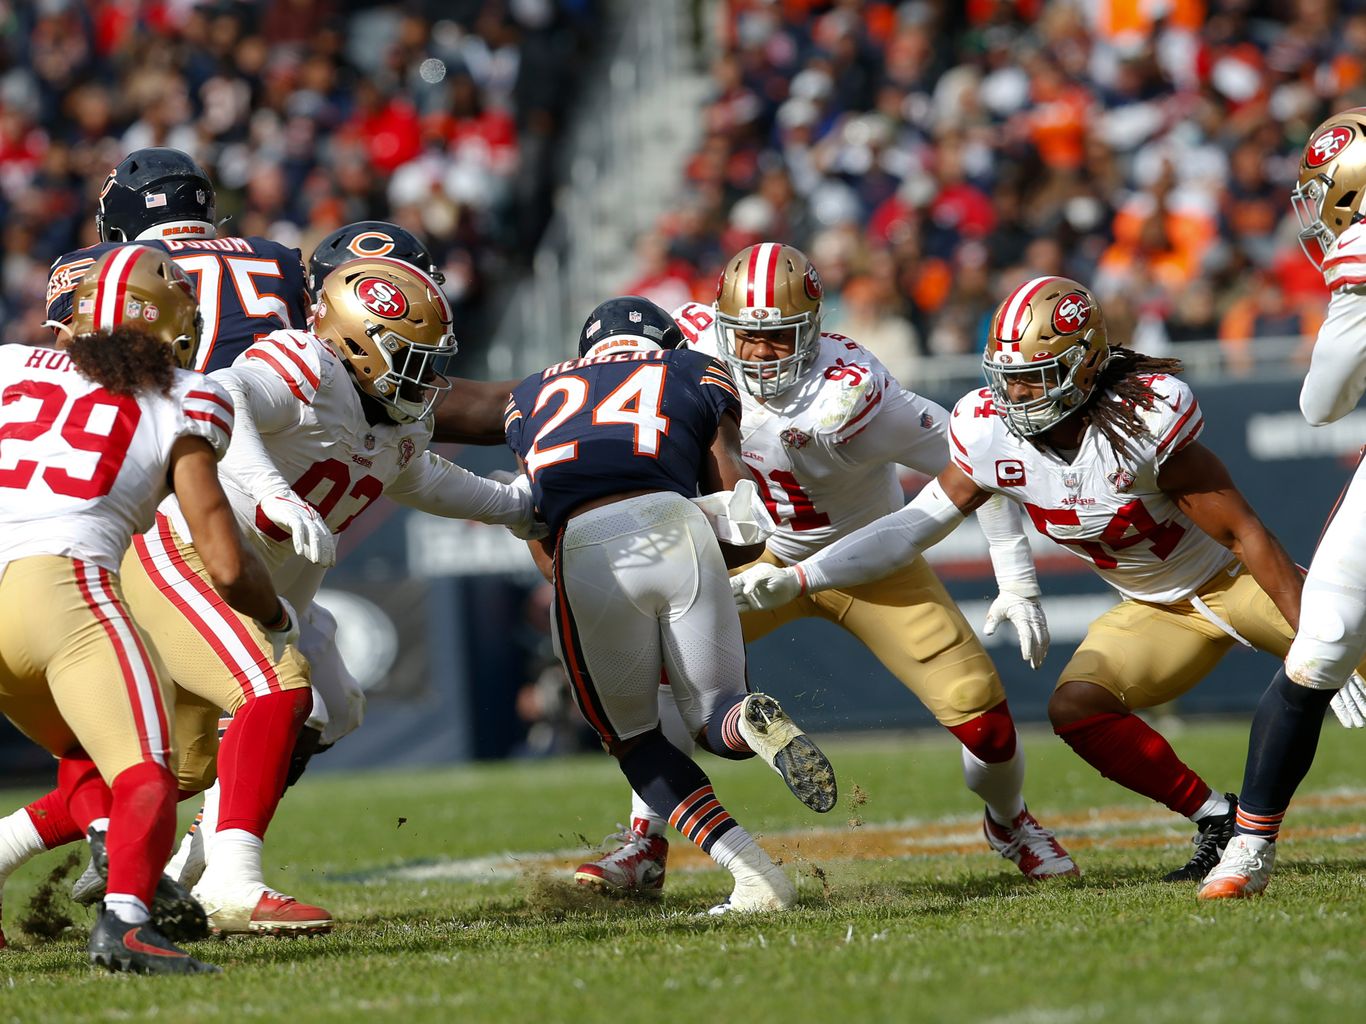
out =
[(94, 224), (101, 242), (161, 238), (172, 224), (178, 236), (213, 238), (213, 183), (189, 153), (135, 149), (104, 180)]

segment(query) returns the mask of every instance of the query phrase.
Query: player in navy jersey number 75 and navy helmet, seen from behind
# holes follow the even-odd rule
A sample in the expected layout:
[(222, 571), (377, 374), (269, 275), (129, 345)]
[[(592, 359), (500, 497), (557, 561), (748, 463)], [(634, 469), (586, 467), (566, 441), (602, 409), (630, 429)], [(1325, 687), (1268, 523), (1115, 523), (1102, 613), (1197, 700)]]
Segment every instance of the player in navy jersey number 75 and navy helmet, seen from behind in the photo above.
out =
[(70, 324), (71, 296), (104, 253), (137, 242), (161, 248), (190, 274), (204, 335), (191, 369), (229, 366), (258, 336), (303, 328), (309, 296), (299, 250), (279, 242), (217, 238), (209, 176), (178, 149), (138, 149), (100, 190), (98, 244), (57, 257), (48, 276), (48, 321)]

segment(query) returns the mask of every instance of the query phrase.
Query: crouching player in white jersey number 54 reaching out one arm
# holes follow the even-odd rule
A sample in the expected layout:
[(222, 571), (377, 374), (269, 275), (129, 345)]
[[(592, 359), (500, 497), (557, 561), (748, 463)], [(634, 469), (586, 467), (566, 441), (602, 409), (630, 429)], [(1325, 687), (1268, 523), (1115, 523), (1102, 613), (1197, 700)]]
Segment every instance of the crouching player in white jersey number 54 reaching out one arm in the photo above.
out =
[(1236, 643), (1284, 657), (1300, 576), (1224, 464), (1176, 360), (1111, 344), (1096, 298), (1037, 277), (996, 310), (990, 384), (949, 421), (951, 464), (903, 511), (790, 568), (734, 580), (770, 608), (885, 576), (948, 535), (992, 494), (1091, 564), (1124, 598), (1097, 618), (1049, 700), (1055, 732), (1102, 776), (1197, 823), (1167, 881), (1198, 881), (1233, 830), (1233, 795), (1187, 767), (1134, 711), (1195, 685)]

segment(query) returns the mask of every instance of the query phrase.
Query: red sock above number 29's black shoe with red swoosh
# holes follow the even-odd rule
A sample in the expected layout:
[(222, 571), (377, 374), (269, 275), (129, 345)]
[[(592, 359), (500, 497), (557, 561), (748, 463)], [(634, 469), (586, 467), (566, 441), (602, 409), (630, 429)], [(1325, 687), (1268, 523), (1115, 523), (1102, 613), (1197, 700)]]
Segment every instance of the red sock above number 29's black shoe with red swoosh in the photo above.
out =
[(113, 780), (113, 810), (105, 834), (108, 892), (135, 896), (143, 909), (152, 904), (175, 840), (175, 776), (150, 760), (124, 769)]

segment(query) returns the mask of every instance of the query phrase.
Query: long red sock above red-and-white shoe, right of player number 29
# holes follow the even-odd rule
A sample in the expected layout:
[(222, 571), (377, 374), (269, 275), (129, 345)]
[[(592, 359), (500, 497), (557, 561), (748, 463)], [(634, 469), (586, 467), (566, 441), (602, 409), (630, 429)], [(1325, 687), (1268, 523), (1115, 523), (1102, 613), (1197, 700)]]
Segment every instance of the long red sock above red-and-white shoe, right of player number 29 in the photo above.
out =
[(238, 709), (219, 751), (219, 831), (265, 836), (284, 792), (294, 740), (311, 707), (311, 691), (299, 688), (251, 698)]

